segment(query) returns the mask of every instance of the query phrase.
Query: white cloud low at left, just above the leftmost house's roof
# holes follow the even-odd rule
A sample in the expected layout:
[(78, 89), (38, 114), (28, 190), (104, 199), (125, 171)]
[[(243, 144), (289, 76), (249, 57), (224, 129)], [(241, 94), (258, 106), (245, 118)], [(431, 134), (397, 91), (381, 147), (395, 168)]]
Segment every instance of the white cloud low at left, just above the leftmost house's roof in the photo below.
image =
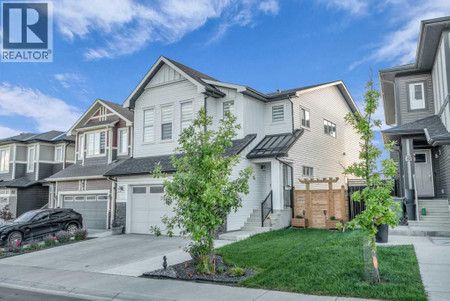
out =
[(81, 111), (39, 90), (2, 83), (0, 84), (1, 115), (32, 119), (40, 132), (66, 131), (79, 118)]

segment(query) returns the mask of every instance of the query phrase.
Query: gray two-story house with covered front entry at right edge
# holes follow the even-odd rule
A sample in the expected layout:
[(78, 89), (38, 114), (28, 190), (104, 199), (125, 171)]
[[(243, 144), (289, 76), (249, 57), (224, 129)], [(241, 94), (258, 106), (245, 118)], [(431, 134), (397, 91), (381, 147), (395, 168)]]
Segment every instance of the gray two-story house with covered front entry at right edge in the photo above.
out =
[(383, 138), (397, 142), (400, 194), (422, 198), (416, 210), (430, 209), (424, 222), (450, 222), (449, 35), (449, 17), (422, 21), (415, 62), (379, 72), (386, 123), (394, 126)]

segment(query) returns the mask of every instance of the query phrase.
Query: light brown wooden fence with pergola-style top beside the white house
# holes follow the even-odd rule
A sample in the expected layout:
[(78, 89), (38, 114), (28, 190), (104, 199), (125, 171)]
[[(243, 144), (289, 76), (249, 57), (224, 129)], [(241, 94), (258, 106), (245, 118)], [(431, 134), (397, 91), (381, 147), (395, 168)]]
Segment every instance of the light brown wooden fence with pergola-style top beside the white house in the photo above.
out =
[[(306, 190), (294, 191), (294, 216), (302, 215), (308, 219), (310, 228), (326, 228), (326, 220), (332, 216), (336, 220), (348, 221), (348, 202), (345, 187), (333, 189), (333, 183), (339, 178), (299, 179), (306, 185)], [(310, 184), (328, 184), (328, 189), (310, 189)], [(326, 210), (326, 215), (324, 214)]]

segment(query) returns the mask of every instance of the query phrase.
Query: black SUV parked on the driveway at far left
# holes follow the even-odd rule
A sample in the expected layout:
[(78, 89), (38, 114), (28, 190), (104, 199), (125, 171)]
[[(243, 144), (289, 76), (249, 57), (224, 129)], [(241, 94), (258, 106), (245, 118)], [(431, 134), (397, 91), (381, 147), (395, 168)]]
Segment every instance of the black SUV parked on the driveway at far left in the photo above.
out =
[(72, 209), (40, 209), (28, 211), (12, 223), (0, 226), (0, 245), (42, 238), (66, 230), (73, 234), (83, 227), (81, 214)]

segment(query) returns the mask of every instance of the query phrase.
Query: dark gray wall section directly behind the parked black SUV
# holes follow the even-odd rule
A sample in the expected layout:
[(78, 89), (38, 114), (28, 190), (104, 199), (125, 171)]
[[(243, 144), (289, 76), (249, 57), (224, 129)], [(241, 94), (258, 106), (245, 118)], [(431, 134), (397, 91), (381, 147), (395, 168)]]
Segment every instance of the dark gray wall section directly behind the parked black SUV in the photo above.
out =
[(36, 185), (17, 190), (17, 216), (48, 203), (48, 187)]

